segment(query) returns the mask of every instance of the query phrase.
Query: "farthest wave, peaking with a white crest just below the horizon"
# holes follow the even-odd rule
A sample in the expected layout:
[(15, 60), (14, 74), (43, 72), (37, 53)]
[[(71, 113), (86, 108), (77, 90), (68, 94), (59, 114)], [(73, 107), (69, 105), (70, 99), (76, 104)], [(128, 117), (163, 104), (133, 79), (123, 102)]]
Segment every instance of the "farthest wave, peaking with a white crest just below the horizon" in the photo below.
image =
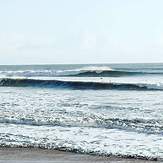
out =
[(0, 71), (1, 76), (21, 76), (21, 77), (55, 77), (55, 76), (74, 76), (74, 77), (123, 77), (135, 75), (163, 75), (161, 71), (134, 71), (112, 69), (108, 66), (88, 66), (78, 69), (55, 70), (55, 69), (36, 69), (36, 70), (17, 70)]

